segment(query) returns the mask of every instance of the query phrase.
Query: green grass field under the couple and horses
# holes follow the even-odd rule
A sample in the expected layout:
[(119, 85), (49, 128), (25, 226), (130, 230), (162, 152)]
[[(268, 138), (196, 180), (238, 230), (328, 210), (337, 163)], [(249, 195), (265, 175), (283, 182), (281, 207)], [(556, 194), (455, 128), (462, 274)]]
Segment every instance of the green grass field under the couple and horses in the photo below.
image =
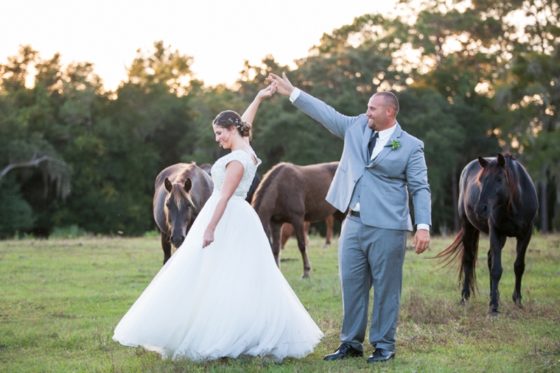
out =
[[(428, 255), (451, 237), (433, 238)], [(513, 239), (503, 249), (500, 316), (487, 315), (488, 239), (480, 244), (479, 295), (459, 307), (456, 273), (407, 251), (395, 360), (325, 362), (339, 345), (342, 300), (337, 241), (311, 237), (311, 279), (302, 280), (295, 241), (282, 272), (325, 338), (307, 358), (197, 364), (120, 346), (113, 328), (161, 267), (158, 238), (0, 241), (0, 372), (559, 372), (560, 237), (533, 237), (521, 293), (511, 302)], [(181, 317), (180, 314), (177, 317)], [(372, 352), (366, 346), (366, 356)]]

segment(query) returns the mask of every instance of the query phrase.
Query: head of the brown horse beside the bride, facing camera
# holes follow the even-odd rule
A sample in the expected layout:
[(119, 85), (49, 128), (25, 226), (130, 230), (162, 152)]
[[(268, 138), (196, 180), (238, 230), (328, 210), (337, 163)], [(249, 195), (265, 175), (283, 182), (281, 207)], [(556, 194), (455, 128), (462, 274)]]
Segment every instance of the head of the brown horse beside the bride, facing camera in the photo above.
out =
[(168, 178), (165, 178), (164, 184), (167, 190), (165, 219), (171, 232), (171, 243), (178, 248), (183, 244), (188, 228), (195, 220), (195, 206), (189, 194), (190, 188), (193, 188), (193, 181), (187, 178), (184, 184), (172, 184)]

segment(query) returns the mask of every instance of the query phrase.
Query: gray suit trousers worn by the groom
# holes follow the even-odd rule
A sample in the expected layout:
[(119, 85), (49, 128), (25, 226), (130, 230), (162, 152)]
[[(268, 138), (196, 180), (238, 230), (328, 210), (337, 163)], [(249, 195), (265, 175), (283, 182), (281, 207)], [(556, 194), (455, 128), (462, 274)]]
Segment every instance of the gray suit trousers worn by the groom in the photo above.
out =
[(407, 234), (406, 230), (370, 227), (356, 216), (348, 216), (342, 223), (338, 260), (344, 319), (340, 339), (354, 349), (363, 351), (373, 286), (370, 344), (395, 351)]

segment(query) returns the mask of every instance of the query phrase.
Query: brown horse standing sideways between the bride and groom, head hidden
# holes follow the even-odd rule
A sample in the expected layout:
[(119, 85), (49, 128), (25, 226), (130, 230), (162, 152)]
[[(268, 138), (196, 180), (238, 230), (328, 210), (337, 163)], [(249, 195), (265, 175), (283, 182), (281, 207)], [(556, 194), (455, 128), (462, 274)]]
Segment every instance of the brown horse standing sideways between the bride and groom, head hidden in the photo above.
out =
[(325, 220), (333, 214), (340, 221), (344, 219), (344, 215), (325, 200), (337, 167), (338, 162), (309, 166), (280, 163), (262, 178), (253, 197), (253, 208), (272, 241), (272, 253), (279, 267), (280, 230), (283, 223), (293, 225), (303, 258), (302, 277), (309, 277), (311, 263), (307, 258), (304, 222)]

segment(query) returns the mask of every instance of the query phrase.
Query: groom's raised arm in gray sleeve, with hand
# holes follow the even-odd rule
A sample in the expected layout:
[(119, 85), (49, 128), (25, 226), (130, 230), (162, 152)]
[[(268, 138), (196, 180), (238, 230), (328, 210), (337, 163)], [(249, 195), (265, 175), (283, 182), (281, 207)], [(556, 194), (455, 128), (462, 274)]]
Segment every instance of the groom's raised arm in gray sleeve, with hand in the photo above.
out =
[(282, 73), (282, 77), (270, 73), (266, 80), (271, 83), (276, 83), (276, 92), (290, 97), (290, 101), (295, 107), (299, 108), (314, 120), (320, 122), (332, 134), (342, 139), (344, 139), (346, 130), (356, 122), (358, 118), (342, 115), (323, 101), (297, 89), (290, 83), (290, 80), (286, 77), (286, 73)]

